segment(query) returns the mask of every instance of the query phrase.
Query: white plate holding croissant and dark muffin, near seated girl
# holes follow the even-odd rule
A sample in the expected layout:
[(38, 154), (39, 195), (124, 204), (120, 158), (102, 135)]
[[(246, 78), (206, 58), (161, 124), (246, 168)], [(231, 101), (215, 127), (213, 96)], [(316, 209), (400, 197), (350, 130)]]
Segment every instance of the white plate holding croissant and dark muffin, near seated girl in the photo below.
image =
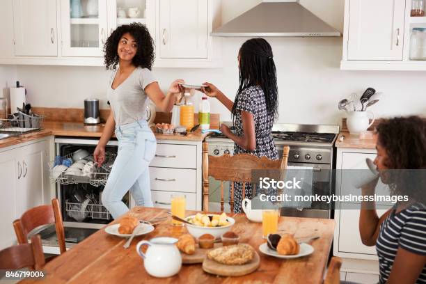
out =
[(267, 242), (259, 246), (259, 251), (276, 258), (291, 259), (310, 255), (314, 248), (309, 244), (299, 244), (292, 235), (269, 234)]

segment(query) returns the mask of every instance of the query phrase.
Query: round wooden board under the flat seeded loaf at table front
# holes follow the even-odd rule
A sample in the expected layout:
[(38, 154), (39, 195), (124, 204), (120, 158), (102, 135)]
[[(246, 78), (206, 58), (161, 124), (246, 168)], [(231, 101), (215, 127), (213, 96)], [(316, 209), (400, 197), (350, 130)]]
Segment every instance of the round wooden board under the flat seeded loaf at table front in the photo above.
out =
[(207, 273), (219, 276), (243, 276), (258, 269), (259, 265), (260, 257), (255, 251), (255, 257), (253, 260), (245, 265), (223, 265), (215, 260), (205, 258), (203, 262), (203, 270)]

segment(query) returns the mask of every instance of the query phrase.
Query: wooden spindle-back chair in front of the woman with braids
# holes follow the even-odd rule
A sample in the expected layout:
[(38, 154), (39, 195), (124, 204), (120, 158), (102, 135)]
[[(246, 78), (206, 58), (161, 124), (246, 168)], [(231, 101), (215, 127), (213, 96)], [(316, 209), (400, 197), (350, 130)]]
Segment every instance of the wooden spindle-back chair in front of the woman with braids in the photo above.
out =
[[(221, 182), (221, 212), (223, 212), (223, 182), (229, 181), (230, 210), (234, 211), (234, 182), (242, 182), (245, 198), (246, 183), (251, 183), (252, 170), (285, 170), (290, 147), (283, 149), (283, 159), (271, 160), (267, 157), (256, 157), (250, 154), (225, 154), (220, 157), (208, 155), (208, 143), (203, 143), (203, 211), (209, 211), (209, 176)], [(283, 178), (283, 177), (281, 177)]]

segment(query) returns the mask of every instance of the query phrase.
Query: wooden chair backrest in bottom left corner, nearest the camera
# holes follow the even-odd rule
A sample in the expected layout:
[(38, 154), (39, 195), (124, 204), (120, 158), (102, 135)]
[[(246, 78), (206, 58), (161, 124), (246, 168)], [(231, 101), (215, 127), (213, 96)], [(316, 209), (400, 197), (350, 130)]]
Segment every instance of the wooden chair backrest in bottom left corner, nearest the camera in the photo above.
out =
[(42, 269), (45, 255), (40, 235), (31, 237), (31, 244), (18, 244), (0, 251), (0, 269), (21, 269), (31, 267)]

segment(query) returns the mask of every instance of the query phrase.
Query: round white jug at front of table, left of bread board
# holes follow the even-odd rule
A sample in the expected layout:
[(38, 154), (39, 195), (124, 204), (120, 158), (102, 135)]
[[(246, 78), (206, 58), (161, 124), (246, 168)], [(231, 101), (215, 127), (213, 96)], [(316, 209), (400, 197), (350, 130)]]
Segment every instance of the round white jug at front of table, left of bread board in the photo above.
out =
[[(143, 258), (145, 270), (154, 277), (170, 277), (177, 274), (182, 267), (182, 256), (175, 246), (178, 239), (174, 237), (155, 237), (141, 241), (136, 246), (136, 252)], [(141, 246), (148, 245), (146, 254), (141, 252)]]

